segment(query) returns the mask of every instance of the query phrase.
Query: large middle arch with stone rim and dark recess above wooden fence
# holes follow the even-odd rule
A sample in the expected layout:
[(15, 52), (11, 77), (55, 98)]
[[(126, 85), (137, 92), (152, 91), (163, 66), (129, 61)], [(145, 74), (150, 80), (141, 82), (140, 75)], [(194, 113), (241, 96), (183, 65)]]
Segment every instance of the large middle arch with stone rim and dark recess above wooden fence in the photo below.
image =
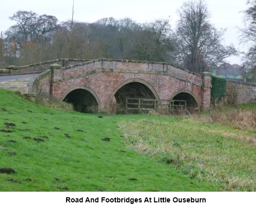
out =
[(110, 95), (107, 102), (110, 112), (121, 112), (125, 108), (126, 98), (159, 99), (150, 83), (139, 78), (128, 79), (120, 83)]

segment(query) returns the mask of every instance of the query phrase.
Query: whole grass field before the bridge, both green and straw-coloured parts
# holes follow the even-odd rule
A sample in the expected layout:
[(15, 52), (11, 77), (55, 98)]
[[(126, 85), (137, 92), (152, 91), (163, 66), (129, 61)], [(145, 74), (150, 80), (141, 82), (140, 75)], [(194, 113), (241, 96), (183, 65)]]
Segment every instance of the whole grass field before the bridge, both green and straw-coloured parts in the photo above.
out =
[(0, 90), (0, 172), (15, 171), (0, 173), (0, 191), (255, 191), (254, 139), (253, 128), (62, 112)]

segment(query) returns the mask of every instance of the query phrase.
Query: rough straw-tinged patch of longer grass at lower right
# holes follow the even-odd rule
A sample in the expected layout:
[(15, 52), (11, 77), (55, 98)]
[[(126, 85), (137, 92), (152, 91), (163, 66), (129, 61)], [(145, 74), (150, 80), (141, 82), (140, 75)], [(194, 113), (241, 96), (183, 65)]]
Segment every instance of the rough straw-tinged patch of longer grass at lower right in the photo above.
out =
[(120, 124), (127, 145), (177, 173), (219, 191), (256, 191), (255, 129), (203, 123), (140, 120)]

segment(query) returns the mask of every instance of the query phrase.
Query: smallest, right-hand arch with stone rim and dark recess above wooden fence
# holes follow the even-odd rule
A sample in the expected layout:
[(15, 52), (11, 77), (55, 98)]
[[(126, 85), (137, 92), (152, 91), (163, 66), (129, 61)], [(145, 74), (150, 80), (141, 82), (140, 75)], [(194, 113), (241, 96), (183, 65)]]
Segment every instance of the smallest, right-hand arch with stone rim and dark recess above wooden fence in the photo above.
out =
[(177, 91), (171, 98), (171, 100), (184, 100), (187, 104), (187, 110), (190, 113), (193, 113), (195, 109), (199, 108), (200, 104), (195, 96), (191, 91), (189, 90), (179, 90)]

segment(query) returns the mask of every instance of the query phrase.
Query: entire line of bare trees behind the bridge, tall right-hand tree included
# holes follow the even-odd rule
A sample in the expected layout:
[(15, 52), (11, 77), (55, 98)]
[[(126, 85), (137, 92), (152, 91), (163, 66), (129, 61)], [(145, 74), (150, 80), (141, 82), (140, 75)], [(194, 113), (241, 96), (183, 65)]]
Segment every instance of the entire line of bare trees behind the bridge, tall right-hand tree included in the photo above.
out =
[[(256, 7), (256, 0), (253, 4)], [(251, 10), (253, 8), (245, 14), (252, 15)], [(170, 19), (155, 19), (142, 24), (129, 17), (108, 17), (93, 23), (58, 22), (55, 16), (17, 11), (9, 17), (15, 25), (0, 36), (0, 67), (58, 58), (111, 58), (169, 62), (201, 73), (212, 71), (225, 63), (225, 58), (239, 54), (232, 44), (222, 44), (225, 30), (210, 23), (203, 0), (183, 3), (178, 14), (174, 30)], [(254, 22), (251, 20), (251, 24)], [(244, 33), (244, 41), (246, 35)], [(245, 57), (254, 60), (254, 53), (252, 48)], [(256, 65), (251, 63), (250, 66), (247, 64), (249, 71)]]

